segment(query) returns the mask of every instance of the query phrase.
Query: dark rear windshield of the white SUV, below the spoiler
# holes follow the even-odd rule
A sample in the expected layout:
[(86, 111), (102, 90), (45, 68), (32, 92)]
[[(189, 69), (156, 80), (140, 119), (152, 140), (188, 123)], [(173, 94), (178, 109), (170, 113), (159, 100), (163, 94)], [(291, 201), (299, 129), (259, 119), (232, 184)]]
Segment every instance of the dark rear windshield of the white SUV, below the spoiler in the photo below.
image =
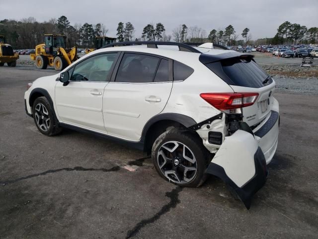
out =
[(229, 85), (261, 88), (273, 82), (252, 59), (231, 58), (206, 66)]

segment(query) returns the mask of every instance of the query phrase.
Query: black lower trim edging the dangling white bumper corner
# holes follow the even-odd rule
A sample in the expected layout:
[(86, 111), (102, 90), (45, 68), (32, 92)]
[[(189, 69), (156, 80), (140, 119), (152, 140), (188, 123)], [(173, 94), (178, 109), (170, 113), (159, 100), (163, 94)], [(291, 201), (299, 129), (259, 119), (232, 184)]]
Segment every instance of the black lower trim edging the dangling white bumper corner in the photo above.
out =
[(213, 159), (212, 162), (209, 164), (208, 168), (206, 169), (206, 173), (217, 176), (220, 179), (222, 179), (226, 184), (228, 184), (237, 194), (239, 199), (243, 202), (245, 207), (249, 209), (251, 205), (252, 196), (263, 187), (268, 174), (265, 156), (260, 147), (257, 148), (254, 154), (254, 164), (254, 176), (242, 187), (236, 185), (235, 182), (233, 182), (232, 179), (229, 178), (222, 166), (213, 163)]

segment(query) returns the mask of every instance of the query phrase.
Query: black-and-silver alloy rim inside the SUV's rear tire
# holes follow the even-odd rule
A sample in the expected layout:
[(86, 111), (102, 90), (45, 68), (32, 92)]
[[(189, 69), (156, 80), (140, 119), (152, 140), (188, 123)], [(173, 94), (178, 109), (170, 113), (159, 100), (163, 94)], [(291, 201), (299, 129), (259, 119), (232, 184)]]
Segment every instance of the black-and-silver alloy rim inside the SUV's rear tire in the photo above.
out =
[(157, 162), (163, 175), (174, 183), (189, 183), (197, 174), (197, 161), (193, 152), (178, 141), (162, 144)]

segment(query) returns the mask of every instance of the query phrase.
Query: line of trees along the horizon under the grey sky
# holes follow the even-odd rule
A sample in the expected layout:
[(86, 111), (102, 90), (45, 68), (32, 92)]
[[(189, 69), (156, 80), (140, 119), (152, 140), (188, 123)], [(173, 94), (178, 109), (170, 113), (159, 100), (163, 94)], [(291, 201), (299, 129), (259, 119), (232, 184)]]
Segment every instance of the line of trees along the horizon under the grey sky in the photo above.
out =
[[(45, 33), (56, 33), (67, 36), (67, 47), (92, 48), (97, 36), (105, 36), (108, 28), (102, 23), (71, 25), (66, 16), (49, 21), (38, 22), (34, 17), (16, 20), (0, 20), (0, 35), (5, 35), (6, 40), (15, 49), (34, 48), (43, 43)], [(112, 37), (112, 36), (111, 36)], [(258, 45), (258, 44), (295, 44), (318, 42), (318, 27), (307, 28), (289, 21), (279, 25), (277, 33), (272, 38), (252, 40), (249, 28), (245, 27), (239, 33), (233, 25), (225, 28), (212, 29), (209, 34), (198, 26), (180, 24), (171, 34), (167, 34), (164, 25), (149, 23), (140, 36), (135, 35), (135, 27), (131, 22), (119, 22), (117, 26), (117, 41), (175, 41), (175, 42), (214, 42), (221, 45)], [(239, 39), (242, 38), (242, 39)]]

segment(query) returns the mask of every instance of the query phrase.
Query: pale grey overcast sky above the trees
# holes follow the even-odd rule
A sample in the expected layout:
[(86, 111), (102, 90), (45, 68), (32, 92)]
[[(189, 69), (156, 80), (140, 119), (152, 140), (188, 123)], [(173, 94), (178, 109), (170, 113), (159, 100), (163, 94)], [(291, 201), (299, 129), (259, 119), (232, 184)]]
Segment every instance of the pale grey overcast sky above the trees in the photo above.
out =
[(0, 20), (34, 16), (48, 21), (61, 15), (72, 25), (103, 23), (113, 37), (118, 22), (130, 21), (138, 38), (145, 25), (161, 22), (167, 34), (180, 24), (198, 26), (207, 33), (232, 24), (239, 39), (245, 27), (257, 39), (273, 37), (287, 20), (318, 27), (318, 0), (0, 0)]

